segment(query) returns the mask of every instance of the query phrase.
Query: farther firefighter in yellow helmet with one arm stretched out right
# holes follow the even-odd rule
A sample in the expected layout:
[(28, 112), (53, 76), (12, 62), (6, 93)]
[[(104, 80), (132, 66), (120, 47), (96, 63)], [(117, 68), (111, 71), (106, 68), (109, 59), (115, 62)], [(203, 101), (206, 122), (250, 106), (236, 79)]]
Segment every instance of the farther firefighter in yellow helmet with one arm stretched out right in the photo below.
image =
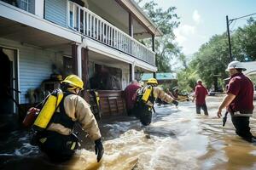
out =
[(147, 85), (137, 90), (137, 101), (134, 106), (135, 116), (140, 119), (144, 126), (151, 123), (154, 100), (159, 98), (166, 103), (178, 105), (178, 102), (161, 88), (156, 87), (158, 82), (155, 78), (149, 78)]

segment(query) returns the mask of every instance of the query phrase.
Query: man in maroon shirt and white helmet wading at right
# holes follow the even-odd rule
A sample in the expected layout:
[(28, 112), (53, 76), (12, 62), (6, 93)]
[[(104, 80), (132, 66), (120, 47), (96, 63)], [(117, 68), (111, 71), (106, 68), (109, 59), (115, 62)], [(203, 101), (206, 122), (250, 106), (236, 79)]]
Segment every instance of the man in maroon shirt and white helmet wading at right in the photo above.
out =
[(256, 142), (249, 127), (249, 119), (253, 115), (254, 108), (253, 82), (241, 73), (241, 71), (246, 71), (246, 69), (239, 61), (230, 62), (226, 71), (230, 72), (230, 82), (227, 95), (218, 107), (217, 116), (222, 116), (221, 111), (228, 107), (231, 120), (236, 128), (236, 134), (248, 142)]

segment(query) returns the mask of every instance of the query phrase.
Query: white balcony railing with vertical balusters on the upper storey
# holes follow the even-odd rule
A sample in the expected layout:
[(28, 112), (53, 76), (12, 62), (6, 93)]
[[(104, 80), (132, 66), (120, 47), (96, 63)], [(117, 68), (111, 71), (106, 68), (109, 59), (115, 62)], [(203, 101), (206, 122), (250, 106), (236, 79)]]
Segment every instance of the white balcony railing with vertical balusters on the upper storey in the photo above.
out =
[(124, 31), (103, 20), (102, 17), (92, 13), (88, 8), (77, 3), (67, 1), (68, 26), (79, 31), (84, 36), (116, 48), (125, 54), (141, 59), (150, 65), (155, 65), (155, 54), (142, 43), (137, 42)]

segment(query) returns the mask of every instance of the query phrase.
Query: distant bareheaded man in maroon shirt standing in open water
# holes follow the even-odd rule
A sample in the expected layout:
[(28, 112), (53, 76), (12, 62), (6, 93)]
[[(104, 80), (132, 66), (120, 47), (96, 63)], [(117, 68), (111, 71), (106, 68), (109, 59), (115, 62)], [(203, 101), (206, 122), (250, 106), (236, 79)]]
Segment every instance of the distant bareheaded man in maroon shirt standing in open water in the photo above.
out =
[(201, 114), (201, 109), (202, 109), (205, 115), (208, 115), (207, 104), (206, 104), (207, 94), (208, 94), (207, 88), (205, 88), (202, 85), (201, 80), (198, 80), (197, 85), (195, 86), (195, 95), (194, 95), (194, 98), (192, 99), (192, 102), (194, 102), (195, 100), (195, 107), (196, 107), (197, 114)]

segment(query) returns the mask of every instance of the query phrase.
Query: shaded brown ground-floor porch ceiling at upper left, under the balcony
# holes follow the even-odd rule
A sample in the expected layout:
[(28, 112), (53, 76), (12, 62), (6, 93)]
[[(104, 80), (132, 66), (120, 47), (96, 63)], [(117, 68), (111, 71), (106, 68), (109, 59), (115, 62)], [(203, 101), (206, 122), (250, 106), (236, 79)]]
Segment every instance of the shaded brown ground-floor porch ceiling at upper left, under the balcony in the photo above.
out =
[(0, 37), (41, 48), (56, 48), (60, 50), (67, 48), (67, 45), (70, 47), (72, 42), (63, 37), (58, 37), (3, 17), (0, 17)]

